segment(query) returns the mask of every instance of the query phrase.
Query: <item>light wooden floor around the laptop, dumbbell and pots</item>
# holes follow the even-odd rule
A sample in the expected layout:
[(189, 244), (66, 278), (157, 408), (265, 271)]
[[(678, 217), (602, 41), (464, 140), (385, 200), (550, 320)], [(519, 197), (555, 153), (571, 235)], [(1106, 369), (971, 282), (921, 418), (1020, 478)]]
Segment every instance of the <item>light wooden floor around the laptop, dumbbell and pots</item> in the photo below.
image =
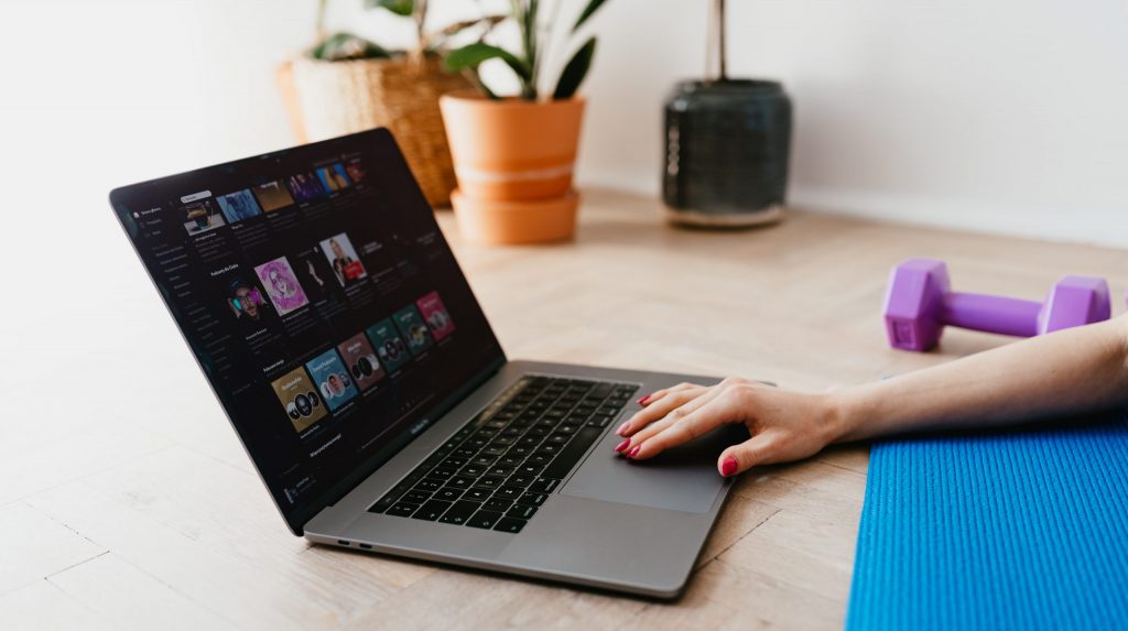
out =
[[(936, 353), (888, 349), (882, 291), (908, 256), (949, 260), (959, 288), (1031, 299), (1065, 273), (1105, 276), (1117, 312), (1128, 284), (1122, 250), (802, 212), (758, 231), (673, 230), (656, 202), (606, 192), (587, 194), (574, 243), (469, 247), (441, 221), (512, 357), (797, 389), (1006, 341), (951, 331)], [(97, 223), (69, 243), (96, 288), (28, 282), (9, 296), (28, 313), (5, 322), (18, 394), (0, 429), (0, 629), (841, 626), (865, 445), (746, 474), (672, 604), (292, 536), (115, 232)]]

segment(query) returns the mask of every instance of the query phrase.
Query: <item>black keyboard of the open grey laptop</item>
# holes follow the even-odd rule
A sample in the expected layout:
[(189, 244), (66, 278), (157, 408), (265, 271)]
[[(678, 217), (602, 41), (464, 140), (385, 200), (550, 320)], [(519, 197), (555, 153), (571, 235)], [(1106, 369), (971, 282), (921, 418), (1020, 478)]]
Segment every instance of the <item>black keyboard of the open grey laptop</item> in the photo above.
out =
[(519, 533), (636, 390), (522, 376), (369, 510)]

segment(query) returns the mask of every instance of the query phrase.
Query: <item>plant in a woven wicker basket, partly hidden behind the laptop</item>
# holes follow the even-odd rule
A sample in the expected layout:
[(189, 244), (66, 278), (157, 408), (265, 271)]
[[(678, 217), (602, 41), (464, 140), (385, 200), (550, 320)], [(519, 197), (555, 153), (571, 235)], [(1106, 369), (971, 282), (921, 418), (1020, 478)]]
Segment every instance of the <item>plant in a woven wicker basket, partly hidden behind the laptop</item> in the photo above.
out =
[(279, 87), (300, 142), (371, 127), (389, 127), (432, 206), (450, 204), (455, 171), (439, 113), (439, 97), (472, 88), (442, 69), (439, 54), (451, 37), (487, 33), (502, 16), (484, 16), (430, 29), (428, 0), (364, 0), (415, 25), (411, 50), (396, 51), (351, 33), (327, 33), (328, 0), (318, 1), (316, 43), (279, 69)]

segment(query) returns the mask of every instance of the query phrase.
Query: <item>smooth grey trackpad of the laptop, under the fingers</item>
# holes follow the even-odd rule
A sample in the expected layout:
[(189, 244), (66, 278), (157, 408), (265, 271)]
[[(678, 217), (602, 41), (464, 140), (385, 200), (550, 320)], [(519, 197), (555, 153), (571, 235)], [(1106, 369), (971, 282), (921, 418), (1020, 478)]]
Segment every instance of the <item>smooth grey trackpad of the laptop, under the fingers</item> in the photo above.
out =
[(658, 457), (635, 462), (611, 451), (623, 438), (608, 433), (561, 494), (707, 513), (724, 486), (724, 478), (716, 471), (716, 459), (729, 445), (747, 439), (748, 429), (743, 425), (723, 425)]

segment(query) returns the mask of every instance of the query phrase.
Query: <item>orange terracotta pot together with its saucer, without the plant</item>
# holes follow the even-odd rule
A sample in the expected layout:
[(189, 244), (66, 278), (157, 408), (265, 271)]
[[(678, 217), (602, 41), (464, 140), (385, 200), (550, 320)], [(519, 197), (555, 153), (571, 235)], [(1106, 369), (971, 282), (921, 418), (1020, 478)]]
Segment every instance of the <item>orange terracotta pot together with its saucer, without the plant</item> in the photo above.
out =
[(460, 92), (442, 97), (439, 106), (458, 179), (451, 203), (464, 238), (496, 245), (572, 237), (583, 99), (496, 101)]

